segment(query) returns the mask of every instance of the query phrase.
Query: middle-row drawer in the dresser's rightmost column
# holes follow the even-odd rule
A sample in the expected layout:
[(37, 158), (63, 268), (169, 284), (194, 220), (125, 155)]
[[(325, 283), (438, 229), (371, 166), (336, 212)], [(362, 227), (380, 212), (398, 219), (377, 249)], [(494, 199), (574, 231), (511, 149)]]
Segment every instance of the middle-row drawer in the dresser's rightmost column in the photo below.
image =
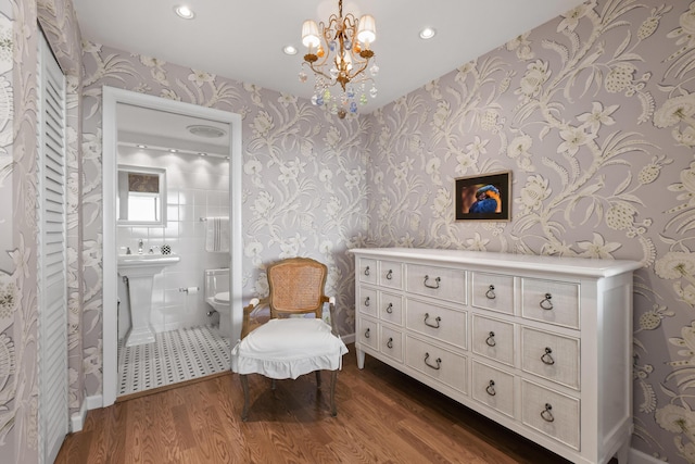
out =
[(579, 340), (522, 327), (521, 368), (579, 390)]

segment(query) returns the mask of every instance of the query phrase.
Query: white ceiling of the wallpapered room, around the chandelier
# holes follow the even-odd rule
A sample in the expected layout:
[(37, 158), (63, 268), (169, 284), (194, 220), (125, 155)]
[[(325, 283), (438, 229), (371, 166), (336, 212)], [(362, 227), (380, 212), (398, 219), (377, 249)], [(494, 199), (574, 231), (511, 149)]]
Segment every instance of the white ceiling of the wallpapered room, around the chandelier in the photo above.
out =
[[(261, 87), (311, 98), (299, 81), (304, 20), (326, 21), (338, 0), (73, 0), (83, 38)], [(195, 18), (174, 8), (186, 3)], [(378, 96), (368, 113), (582, 3), (580, 0), (376, 0), (343, 3), (343, 14), (369, 13)], [(437, 36), (421, 40), (425, 26)], [(286, 55), (282, 48), (300, 50)]]

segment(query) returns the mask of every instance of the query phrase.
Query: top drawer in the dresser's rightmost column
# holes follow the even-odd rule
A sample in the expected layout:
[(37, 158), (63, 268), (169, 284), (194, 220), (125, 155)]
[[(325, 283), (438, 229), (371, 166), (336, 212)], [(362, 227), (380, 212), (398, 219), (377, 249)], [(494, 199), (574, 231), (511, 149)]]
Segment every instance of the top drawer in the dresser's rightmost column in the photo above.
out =
[(521, 315), (563, 327), (579, 328), (579, 284), (521, 279)]

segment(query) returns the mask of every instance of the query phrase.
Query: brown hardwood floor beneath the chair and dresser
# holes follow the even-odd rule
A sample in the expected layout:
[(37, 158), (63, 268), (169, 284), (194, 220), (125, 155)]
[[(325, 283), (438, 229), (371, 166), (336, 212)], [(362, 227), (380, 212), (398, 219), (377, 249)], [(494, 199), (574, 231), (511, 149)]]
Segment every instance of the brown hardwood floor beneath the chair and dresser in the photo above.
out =
[(241, 383), (226, 374), (90, 411), (55, 461), (79, 463), (567, 463), (354, 346), (328, 411), (314, 375), (250, 376), (249, 421)]

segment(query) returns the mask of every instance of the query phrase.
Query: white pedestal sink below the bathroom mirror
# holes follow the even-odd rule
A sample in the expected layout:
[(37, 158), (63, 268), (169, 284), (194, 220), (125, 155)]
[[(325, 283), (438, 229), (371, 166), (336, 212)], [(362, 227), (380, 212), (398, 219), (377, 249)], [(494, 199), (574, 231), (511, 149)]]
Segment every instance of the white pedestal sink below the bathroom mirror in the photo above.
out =
[(161, 273), (164, 267), (178, 263), (180, 259), (177, 254), (118, 255), (118, 274), (128, 279), (132, 324), (126, 337), (126, 347), (154, 341), (154, 330), (150, 324), (154, 275)]

